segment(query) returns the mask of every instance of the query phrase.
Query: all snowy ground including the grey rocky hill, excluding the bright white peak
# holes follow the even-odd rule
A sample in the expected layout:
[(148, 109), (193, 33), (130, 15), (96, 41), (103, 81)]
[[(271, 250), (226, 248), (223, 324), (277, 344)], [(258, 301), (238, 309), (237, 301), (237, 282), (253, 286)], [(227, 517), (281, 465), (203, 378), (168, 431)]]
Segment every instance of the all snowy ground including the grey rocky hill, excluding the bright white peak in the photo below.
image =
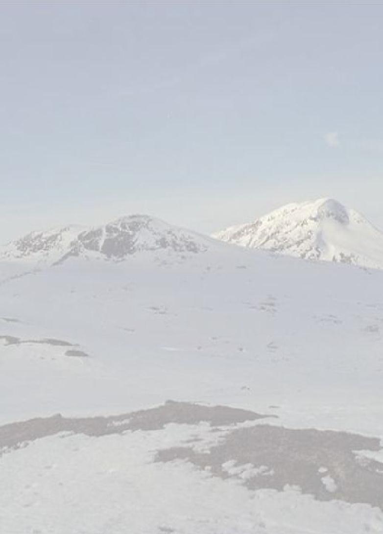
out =
[(0, 532), (383, 532), (383, 273), (147, 216), (1, 252)]

